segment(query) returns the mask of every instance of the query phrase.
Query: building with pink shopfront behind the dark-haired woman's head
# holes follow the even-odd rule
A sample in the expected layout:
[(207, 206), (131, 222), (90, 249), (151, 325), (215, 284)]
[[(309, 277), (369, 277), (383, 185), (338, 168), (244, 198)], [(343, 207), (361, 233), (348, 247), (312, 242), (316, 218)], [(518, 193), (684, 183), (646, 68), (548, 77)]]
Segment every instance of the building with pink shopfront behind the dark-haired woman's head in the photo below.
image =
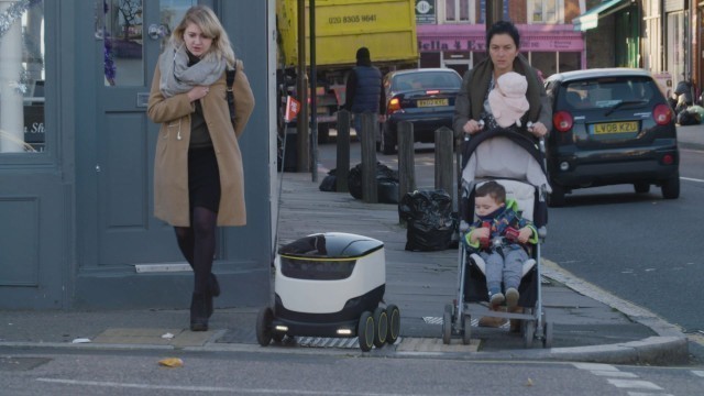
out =
[[(579, 0), (503, 0), (502, 19), (520, 32), (520, 51), (543, 76), (586, 67), (584, 35), (572, 19)], [(419, 0), (417, 32), (421, 67), (463, 74), (486, 58), (486, 0)], [(424, 12), (425, 11), (425, 12)]]

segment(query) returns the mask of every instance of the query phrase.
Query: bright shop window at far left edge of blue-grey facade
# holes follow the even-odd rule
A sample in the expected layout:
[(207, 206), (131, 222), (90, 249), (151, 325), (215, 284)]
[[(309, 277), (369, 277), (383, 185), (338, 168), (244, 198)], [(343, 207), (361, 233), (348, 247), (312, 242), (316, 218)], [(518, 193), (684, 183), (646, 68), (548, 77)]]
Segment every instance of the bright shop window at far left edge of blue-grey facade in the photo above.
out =
[(45, 150), (43, 6), (0, 1), (0, 154)]

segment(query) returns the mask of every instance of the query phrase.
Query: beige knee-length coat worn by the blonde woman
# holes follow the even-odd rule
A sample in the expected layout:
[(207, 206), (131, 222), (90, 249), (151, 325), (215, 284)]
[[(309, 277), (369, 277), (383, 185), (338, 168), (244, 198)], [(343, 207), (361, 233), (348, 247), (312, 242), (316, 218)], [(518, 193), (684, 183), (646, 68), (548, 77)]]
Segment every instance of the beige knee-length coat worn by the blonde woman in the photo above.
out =
[[(233, 84), (234, 128), (226, 99), (224, 73), (210, 86), (208, 95), (200, 99), (220, 170), (218, 226), (246, 223), (244, 170), (238, 139), (254, 109), (254, 96), (241, 61), (237, 61), (237, 69)], [(189, 227), (188, 145), (190, 116), (196, 111), (196, 106), (186, 94), (164, 97), (160, 90), (160, 79), (157, 65), (147, 108), (148, 118), (162, 124), (154, 157), (154, 216), (172, 226)]]

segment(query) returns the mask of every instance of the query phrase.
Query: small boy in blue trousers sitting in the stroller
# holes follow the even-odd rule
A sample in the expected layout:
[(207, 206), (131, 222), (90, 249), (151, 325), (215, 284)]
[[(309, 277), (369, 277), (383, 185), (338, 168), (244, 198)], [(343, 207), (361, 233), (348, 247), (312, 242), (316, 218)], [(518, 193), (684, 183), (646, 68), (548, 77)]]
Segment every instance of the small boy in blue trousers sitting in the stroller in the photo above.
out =
[(504, 301), (508, 309), (516, 308), (528, 245), (538, 243), (538, 231), (516, 210), (516, 201), (506, 200), (501, 184), (486, 182), (476, 188), (474, 213), (479, 220), (464, 235), (464, 243), (468, 252), (477, 253), (486, 263), (486, 287), (494, 310)]

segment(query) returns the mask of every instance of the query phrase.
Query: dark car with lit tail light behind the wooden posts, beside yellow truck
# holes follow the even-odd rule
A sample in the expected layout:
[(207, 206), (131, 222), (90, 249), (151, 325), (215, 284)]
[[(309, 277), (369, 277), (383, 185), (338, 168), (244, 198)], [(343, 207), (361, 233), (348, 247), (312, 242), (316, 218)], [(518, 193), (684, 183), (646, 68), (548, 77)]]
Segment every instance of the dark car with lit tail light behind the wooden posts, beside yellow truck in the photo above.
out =
[(393, 154), (400, 121), (414, 124), (414, 141), (435, 142), (435, 131), (452, 129), (454, 98), (462, 77), (450, 68), (420, 68), (389, 72), (384, 76), (386, 121), (380, 129), (377, 150)]

